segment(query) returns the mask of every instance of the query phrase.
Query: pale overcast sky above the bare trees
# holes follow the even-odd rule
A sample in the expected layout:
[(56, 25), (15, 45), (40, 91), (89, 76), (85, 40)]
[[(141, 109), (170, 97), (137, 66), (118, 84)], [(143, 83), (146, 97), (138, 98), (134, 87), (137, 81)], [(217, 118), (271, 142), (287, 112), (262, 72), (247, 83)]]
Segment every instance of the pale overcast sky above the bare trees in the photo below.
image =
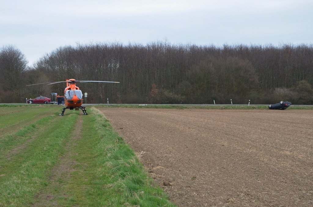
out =
[(0, 7), (0, 47), (29, 65), (60, 46), (120, 42), (312, 44), (313, 0), (9, 0)]

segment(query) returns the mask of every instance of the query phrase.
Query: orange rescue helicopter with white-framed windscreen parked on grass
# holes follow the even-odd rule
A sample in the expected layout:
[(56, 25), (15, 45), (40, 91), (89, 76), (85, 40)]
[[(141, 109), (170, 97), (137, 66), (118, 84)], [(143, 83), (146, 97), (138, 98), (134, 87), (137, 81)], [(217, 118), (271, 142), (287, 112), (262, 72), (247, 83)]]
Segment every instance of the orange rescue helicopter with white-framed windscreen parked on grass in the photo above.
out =
[[(113, 81), (82, 81), (82, 80), (75, 80), (75, 79), (69, 79), (66, 81), (59, 81), (59, 82), (49, 82), (49, 83), (37, 83), (32, 85), (39, 85), (39, 84), (55, 84), (55, 83), (66, 83), (66, 88), (64, 89), (64, 105), (65, 108), (63, 108), (63, 111), (60, 116), (64, 115), (65, 109), (69, 110), (79, 110), (81, 109), (84, 113), (84, 115), (87, 115), (85, 107), (82, 106), (83, 104), (83, 93), (81, 90), (76, 86), (76, 82), (101, 82), (101, 83), (120, 83), (120, 82), (113, 82)], [(27, 85), (27, 86), (32, 86)]]

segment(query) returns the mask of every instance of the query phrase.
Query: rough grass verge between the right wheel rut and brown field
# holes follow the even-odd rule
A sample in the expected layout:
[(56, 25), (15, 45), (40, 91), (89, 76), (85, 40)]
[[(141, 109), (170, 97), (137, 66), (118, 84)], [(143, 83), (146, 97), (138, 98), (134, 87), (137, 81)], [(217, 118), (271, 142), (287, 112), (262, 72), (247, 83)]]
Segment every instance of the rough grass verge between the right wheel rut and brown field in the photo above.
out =
[(59, 205), (174, 206), (156, 187), (137, 156), (97, 109), (84, 116), (75, 171)]

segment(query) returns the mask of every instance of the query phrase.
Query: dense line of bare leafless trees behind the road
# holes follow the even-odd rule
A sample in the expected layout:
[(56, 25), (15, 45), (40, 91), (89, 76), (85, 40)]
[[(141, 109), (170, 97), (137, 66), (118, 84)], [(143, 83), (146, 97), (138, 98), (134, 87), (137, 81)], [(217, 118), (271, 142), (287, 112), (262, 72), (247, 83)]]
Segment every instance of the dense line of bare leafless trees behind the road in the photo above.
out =
[(313, 104), (313, 45), (146, 45), (120, 43), (60, 47), (31, 68), (13, 46), (0, 51), (0, 102), (24, 102), (38, 95), (63, 93), (76, 80), (89, 103), (250, 103), (288, 100)]

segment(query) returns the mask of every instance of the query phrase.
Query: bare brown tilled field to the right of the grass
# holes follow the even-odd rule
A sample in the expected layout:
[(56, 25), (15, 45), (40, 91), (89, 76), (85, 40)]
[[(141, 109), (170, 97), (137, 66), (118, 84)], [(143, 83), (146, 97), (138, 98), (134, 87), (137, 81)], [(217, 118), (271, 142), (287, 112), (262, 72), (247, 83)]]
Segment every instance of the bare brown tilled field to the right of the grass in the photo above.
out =
[(178, 206), (313, 206), (313, 110), (98, 109)]

